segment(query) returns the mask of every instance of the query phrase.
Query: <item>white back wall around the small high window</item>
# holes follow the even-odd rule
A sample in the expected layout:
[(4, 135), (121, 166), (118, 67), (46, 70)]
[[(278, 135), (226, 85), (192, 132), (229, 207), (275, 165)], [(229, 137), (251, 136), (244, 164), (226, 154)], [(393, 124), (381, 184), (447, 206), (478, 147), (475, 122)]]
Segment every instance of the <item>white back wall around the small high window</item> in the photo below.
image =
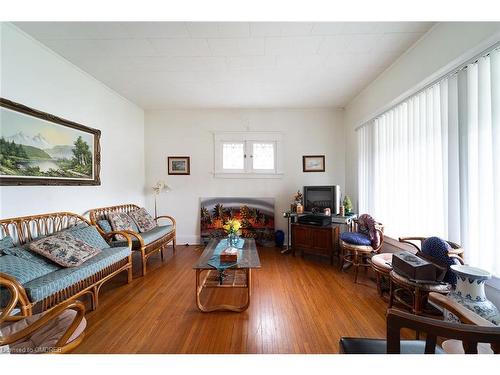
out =
[[(303, 185), (344, 187), (343, 111), (329, 109), (146, 111), (146, 184), (165, 180), (172, 191), (159, 200), (159, 213), (177, 219), (178, 243), (199, 241), (201, 197), (274, 197), (277, 229), (292, 195)], [(285, 148), (281, 179), (222, 179), (214, 170), (214, 131), (280, 131)], [(303, 173), (302, 155), (326, 156), (325, 173)], [(190, 156), (191, 175), (169, 176), (167, 156)], [(153, 207), (152, 191), (147, 196)], [(285, 231), (286, 233), (286, 231)]]

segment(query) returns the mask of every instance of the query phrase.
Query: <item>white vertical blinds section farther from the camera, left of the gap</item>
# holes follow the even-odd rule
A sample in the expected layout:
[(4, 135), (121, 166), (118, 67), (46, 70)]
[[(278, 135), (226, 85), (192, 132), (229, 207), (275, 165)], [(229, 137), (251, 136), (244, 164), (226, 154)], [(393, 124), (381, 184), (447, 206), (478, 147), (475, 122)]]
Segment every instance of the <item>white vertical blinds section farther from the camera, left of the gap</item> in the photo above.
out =
[(441, 84), (358, 130), (359, 209), (392, 237), (447, 233)]

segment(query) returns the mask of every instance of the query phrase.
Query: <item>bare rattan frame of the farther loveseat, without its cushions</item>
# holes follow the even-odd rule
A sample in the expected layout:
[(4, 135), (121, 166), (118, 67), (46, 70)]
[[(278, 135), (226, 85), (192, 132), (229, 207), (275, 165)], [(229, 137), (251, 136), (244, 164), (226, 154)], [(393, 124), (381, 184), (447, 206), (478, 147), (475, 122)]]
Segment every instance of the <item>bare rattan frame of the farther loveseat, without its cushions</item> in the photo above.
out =
[[(110, 206), (110, 207), (101, 207), (101, 208), (94, 208), (89, 211), (89, 216), (90, 216), (90, 221), (92, 224), (94, 224), (97, 229), (102, 233), (105, 234), (106, 232), (103, 231), (103, 229), (98, 225), (98, 222), (100, 220), (107, 220), (108, 219), (108, 214), (111, 212), (124, 212), (124, 213), (129, 213), (131, 211), (137, 210), (140, 207), (135, 205), (135, 204), (123, 204), (119, 206)], [(163, 249), (165, 249), (169, 243), (172, 243), (173, 247), (173, 252), (175, 253), (175, 219), (172, 216), (164, 215), (164, 216), (158, 216), (155, 217), (155, 221), (158, 223), (160, 219), (167, 219), (172, 222), (173, 229), (166, 235), (147, 243), (147, 241), (144, 240), (143, 234), (141, 233), (136, 233), (133, 231), (125, 231), (127, 234), (129, 234), (132, 239), (134, 240), (134, 246), (132, 247), (133, 250), (140, 251), (141, 253), (141, 260), (142, 260), (142, 275), (144, 276), (146, 274), (146, 264), (149, 259), (149, 257), (157, 252), (160, 253), (161, 259), (163, 261)]]

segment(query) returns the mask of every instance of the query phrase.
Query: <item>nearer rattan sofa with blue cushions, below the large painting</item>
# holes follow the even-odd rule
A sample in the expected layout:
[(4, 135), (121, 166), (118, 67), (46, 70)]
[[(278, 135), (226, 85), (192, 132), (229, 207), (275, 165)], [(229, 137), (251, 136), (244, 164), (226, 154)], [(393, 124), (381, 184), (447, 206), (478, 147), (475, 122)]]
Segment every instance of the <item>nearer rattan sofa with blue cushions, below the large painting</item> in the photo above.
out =
[(104, 239), (109, 239), (120, 233), (127, 238), (127, 242), (122, 247), (106, 246), (99, 254), (77, 267), (61, 267), (29, 251), (26, 246), (38, 237), (90, 225), (84, 217), (70, 212), (0, 220), (0, 238), (10, 236), (14, 241), (14, 247), (7, 249), (8, 253), (2, 250), (0, 254), (0, 315), (9, 305), (9, 300), (15, 298), (19, 316), (30, 316), (33, 312), (49, 310), (86, 293), (91, 294), (91, 307), (94, 310), (99, 289), (107, 280), (120, 272), (127, 272), (128, 282), (131, 282), (132, 241), (125, 233), (104, 235)]

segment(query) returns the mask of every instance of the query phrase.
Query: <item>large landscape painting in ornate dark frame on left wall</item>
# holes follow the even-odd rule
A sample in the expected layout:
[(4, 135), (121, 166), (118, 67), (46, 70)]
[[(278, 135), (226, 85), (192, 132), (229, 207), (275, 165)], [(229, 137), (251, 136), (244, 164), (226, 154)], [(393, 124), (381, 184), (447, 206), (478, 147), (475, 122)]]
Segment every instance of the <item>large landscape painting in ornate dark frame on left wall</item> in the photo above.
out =
[(4, 98), (0, 125), (0, 185), (100, 185), (100, 130)]

